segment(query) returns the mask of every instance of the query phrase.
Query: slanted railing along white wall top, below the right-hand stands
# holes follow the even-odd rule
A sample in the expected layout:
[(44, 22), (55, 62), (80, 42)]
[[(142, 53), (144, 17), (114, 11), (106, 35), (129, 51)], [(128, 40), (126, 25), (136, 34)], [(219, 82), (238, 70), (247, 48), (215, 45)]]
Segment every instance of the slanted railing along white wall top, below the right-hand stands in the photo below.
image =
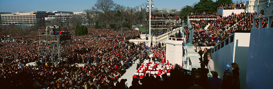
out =
[[(235, 34), (235, 33), (231, 34), (231, 35), (228, 36), (226, 39), (224, 39), (222, 42), (220, 42), (218, 45), (214, 46), (214, 47), (211, 49), (211, 53), (214, 53), (214, 52), (216, 52), (217, 50), (223, 48), (224, 46), (230, 44), (231, 42), (234, 42), (234, 34)], [(231, 38), (231, 37), (233, 37), (233, 38)], [(232, 41), (231, 41), (231, 40), (232, 40)], [(227, 41), (228, 41), (228, 42), (227, 42)], [(222, 45), (222, 43), (224, 43), (224, 44)]]

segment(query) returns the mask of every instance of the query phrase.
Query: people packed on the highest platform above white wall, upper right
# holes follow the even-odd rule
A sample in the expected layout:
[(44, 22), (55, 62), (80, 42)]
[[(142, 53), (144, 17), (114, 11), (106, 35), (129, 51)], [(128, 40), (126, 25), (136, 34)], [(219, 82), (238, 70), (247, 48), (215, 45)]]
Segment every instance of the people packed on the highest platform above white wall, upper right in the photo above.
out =
[(245, 5), (239, 4), (239, 3), (219, 4), (218, 8), (223, 8), (224, 10), (236, 10), (236, 9), (245, 9)]

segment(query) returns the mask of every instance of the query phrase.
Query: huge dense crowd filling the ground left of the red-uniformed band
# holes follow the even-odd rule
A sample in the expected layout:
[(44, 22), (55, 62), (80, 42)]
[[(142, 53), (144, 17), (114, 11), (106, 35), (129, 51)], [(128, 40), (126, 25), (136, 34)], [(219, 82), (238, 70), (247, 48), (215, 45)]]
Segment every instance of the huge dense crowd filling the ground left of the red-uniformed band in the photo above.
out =
[[(128, 41), (138, 35), (140, 32), (135, 30), (89, 29), (88, 35), (72, 36), (72, 40), (61, 42), (62, 49), (68, 54), (62, 54), (66, 60), (59, 64), (52, 62), (50, 56), (46, 62), (39, 61), (43, 54), (34, 52), (38, 49), (39, 43), (34, 42), (38, 34), (37, 37), (5, 43), (1, 46), (1, 56), (11, 57), (1, 58), (1, 88), (115, 87), (113, 82), (119, 80), (141, 51), (148, 49), (145, 43)], [(25, 54), (15, 55), (20, 53)], [(35, 62), (36, 66), (26, 66), (29, 62)], [(74, 63), (86, 65), (70, 66)]]

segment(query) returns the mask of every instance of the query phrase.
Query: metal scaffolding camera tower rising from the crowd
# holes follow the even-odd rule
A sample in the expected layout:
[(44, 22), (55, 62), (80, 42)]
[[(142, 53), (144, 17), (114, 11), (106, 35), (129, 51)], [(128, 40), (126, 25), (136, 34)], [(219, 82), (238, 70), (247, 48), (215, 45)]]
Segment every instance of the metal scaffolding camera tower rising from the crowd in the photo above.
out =
[(38, 54), (44, 55), (42, 62), (51, 60), (52, 63), (60, 62), (62, 49), (60, 46), (59, 35), (55, 34), (53, 28), (40, 29)]

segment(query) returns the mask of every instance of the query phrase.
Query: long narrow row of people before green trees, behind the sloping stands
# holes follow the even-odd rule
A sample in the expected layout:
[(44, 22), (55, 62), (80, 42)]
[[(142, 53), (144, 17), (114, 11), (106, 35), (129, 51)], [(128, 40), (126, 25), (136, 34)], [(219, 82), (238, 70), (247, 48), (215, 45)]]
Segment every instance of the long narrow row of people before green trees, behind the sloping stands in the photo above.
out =
[(188, 14), (190, 19), (193, 18), (221, 18), (223, 17), (222, 14), (219, 13), (212, 13), (212, 12), (195, 12), (195, 13), (189, 13)]

